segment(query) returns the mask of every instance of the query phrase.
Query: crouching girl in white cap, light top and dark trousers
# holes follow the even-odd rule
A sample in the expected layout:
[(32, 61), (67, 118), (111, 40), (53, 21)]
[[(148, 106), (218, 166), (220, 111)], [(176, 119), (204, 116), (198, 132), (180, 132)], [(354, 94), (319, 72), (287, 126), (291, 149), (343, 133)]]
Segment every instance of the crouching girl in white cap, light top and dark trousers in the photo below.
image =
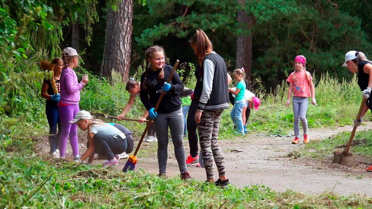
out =
[(103, 166), (119, 165), (119, 154), (125, 152), (128, 146), (123, 132), (113, 125), (93, 119), (85, 110), (76, 113), (69, 122), (76, 123), (83, 131), (88, 130), (89, 147), (77, 162), (85, 161), (88, 157), (89, 162), (92, 162), (94, 153), (97, 153), (107, 159)]

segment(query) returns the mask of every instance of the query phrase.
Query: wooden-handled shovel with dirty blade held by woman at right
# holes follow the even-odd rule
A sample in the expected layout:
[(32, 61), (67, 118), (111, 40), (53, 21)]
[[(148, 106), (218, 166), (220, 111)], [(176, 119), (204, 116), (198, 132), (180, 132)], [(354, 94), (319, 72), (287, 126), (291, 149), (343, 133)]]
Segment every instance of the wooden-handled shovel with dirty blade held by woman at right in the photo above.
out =
[[(356, 116), (356, 120), (360, 120), (360, 115), (362, 115), (363, 107), (366, 103), (366, 99), (362, 100), (362, 104), (360, 104), (358, 115)], [(336, 149), (333, 152), (333, 163), (338, 163), (341, 165), (353, 165), (355, 163), (355, 157), (351, 152), (349, 152), (350, 145), (353, 142), (355, 131), (357, 126), (354, 124), (353, 131), (351, 132), (349, 142), (347, 142), (346, 148), (343, 149)]]

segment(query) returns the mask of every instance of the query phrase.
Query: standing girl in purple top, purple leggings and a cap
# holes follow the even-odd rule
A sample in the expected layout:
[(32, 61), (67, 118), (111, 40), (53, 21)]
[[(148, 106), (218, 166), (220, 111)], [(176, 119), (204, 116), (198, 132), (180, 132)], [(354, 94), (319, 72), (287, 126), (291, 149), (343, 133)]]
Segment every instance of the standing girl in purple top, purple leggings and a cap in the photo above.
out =
[(60, 158), (65, 158), (67, 138), (74, 153), (74, 161), (78, 160), (79, 147), (77, 141), (77, 126), (68, 121), (74, 118), (79, 112), (80, 90), (88, 83), (88, 76), (84, 75), (80, 83), (73, 68), (77, 67), (80, 56), (76, 50), (67, 47), (62, 51), (63, 68), (60, 77), (61, 99), (57, 103), (60, 113), (62, 131), (60, 135)]

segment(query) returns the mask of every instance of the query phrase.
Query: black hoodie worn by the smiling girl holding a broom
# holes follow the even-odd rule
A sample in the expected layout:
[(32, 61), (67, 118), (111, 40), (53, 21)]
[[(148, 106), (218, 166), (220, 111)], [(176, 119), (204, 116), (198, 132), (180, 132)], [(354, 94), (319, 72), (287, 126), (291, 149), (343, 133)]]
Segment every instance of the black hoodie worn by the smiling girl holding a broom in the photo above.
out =
[[(163, 91), (164, 82), (167, 82), (169, 75), (171, 74), (173, 67), (170, 65), (164, 65), (164, 78), (161, 81), (157, 80), (160, 70), (152, 71), (151, 69), (146, 70), (141, 75), (141, 92), (140, 98), (143, 105), (147, 110), (155, 108), (156, 103)], [(147, 89), (144, 90), (143, 84), (145, 84), (145, 78), (149, 82)], [(157, 113), (170, 113), (181, 109), (181, 100), (179, 93), (183, 91), (183, 83), (177, 72), (174, 72), (173, 77), (170, 81), (170, 90), (164, 93), (164, 97), (160, 102)]]

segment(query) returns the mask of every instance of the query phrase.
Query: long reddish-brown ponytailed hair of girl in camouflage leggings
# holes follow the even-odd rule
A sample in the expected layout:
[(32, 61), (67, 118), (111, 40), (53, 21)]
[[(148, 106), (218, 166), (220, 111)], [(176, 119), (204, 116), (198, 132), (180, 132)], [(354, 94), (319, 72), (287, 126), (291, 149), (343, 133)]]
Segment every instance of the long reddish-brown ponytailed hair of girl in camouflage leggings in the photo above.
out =
[(193, 35), (190, 39), (190, 43), (196, 46), (196, 59), (198, 60), (199, 64), (201, 64), (203, 61), (205, 54), (209, 54), (211, 51), (213, 51), (212, 42), (201, 29), (196, 30), (195, 35)]

